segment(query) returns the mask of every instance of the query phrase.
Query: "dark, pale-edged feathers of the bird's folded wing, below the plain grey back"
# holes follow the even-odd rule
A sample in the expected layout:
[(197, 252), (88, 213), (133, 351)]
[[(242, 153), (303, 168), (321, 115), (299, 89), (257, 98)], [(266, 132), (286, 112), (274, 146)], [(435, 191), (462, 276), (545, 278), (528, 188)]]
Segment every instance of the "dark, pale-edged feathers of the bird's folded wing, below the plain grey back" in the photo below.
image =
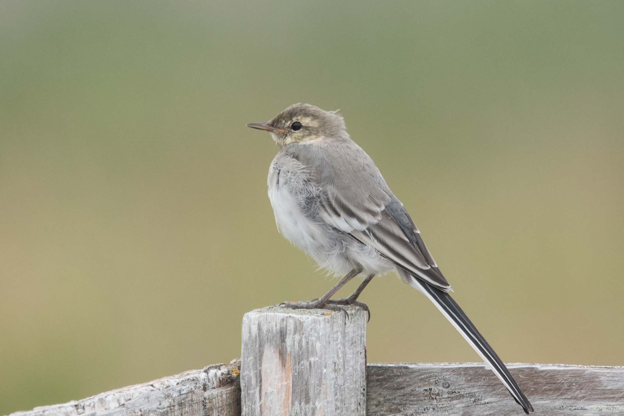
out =
[(442, 275), (420, 231), (389, 190), (369, 183), (368, 193), (324, 186), (321, 218), (364, 244), (375, 248), (408, 273), (443, 291), (451, 285)]

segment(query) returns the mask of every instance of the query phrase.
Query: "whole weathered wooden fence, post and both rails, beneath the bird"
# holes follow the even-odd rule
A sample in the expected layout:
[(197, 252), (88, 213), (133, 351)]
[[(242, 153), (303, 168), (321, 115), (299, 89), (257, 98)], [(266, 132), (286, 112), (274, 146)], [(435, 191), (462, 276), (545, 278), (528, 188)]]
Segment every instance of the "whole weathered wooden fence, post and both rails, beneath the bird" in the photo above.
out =
[[(524, 415), (484, 364), (367, 365), (366, 314), (347, 309), (251, 311), (240, 360), (11, 416)], [(624, 367), (508, 367), (535, 415), (624, 415)]]

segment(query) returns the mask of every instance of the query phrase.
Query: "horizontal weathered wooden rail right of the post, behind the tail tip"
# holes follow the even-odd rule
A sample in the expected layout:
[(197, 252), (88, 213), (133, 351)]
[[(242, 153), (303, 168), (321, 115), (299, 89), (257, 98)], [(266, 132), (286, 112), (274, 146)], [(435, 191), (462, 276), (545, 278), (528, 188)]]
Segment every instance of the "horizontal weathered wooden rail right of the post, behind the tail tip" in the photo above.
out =
[[(507, 367), (534, 415), (624, 415), (624, 367)], [(369, 416), (524, 415), (494, 373), (477, 363), (369, 364), (366, 409)]]

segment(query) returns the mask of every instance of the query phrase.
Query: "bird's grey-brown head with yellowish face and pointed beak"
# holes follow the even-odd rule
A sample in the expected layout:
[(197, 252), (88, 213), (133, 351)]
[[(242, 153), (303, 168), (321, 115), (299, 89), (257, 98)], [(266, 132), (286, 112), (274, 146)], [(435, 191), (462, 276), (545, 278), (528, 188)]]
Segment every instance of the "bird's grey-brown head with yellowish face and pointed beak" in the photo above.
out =
[(332, 140), (343, 134), (344, 119), (339, 110), (325, 111), (310, 104), (293, 104), (266, 123), (249, 123), (247, 127), (266, 130), (281, 147), (296, 142)]

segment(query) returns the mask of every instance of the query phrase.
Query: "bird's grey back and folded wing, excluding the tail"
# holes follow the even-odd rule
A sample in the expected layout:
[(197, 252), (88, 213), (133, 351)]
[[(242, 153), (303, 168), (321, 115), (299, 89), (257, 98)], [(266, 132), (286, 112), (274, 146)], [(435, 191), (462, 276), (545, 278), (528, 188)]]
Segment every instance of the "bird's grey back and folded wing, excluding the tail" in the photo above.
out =
[(309, 180), (318, 189), (323, 221), (372, 246), (426, 283), (445, 292), (451, 290), (414, 221), (361, 147), (351, 140), (325, 145), (293, 143), (283, 152), (310, 169)]

